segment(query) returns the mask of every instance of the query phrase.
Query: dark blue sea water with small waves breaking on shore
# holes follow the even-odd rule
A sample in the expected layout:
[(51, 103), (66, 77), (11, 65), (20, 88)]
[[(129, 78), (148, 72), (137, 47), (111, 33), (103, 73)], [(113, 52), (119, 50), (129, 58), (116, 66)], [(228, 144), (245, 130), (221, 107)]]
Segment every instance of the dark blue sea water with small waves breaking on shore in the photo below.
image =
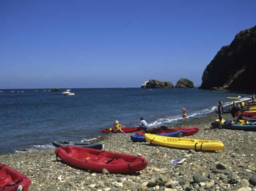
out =
[(143, 116), (150, 126), (175, 124), (183, 107), (189, 118), (200, 117), (219, 100), (229, 104), (227, 96), (241, 95), (200, 89), (73, 89), (75, 96), (61, 95), (64, 89), (11, 91), (0, 91), (0, 154), (53, 148), (53, 140), (97, 138), (115, 120), (137, 126)]

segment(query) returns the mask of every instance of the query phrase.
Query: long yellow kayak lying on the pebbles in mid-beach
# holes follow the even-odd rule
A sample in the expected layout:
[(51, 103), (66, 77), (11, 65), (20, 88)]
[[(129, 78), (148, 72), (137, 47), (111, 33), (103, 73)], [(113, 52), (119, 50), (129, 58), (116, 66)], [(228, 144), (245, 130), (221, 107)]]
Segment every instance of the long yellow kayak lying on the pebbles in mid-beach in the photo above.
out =
[(218, 140), (197, 140), (191, 138), (176, 138), (169, 136), (159, 136), (155, 134), (144, 134), (147, 142), (161, 146), (173, 148), (186, 148), (195, 150), (223, 150), (224, 144)]

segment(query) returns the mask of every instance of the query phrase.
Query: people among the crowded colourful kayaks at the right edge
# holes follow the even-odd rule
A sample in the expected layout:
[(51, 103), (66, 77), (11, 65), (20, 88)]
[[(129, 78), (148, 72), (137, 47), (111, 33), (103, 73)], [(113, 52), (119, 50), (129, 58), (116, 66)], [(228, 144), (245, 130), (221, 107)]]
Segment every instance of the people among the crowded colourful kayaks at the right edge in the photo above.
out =
[[(214, 128), (228, 128), (233, 130), (256, 130), (256, 102), (255, 96), (247, 102), (242, 101), (237, 104), (233, 102), (231, 109), (225, 110), (223, 102), (219, 101), (218, 119), (211, 123)], [(224, 113), (231, 113), (233, 118), (224, 119)]]

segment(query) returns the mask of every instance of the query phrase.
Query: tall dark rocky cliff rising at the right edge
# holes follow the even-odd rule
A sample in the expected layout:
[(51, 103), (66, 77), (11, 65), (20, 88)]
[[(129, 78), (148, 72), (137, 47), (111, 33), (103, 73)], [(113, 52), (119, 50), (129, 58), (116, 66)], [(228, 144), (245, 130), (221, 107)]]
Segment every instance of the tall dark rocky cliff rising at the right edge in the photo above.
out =
[(256, 27), (222, 47), (203, 72), (201, 89), (256, 91)]

